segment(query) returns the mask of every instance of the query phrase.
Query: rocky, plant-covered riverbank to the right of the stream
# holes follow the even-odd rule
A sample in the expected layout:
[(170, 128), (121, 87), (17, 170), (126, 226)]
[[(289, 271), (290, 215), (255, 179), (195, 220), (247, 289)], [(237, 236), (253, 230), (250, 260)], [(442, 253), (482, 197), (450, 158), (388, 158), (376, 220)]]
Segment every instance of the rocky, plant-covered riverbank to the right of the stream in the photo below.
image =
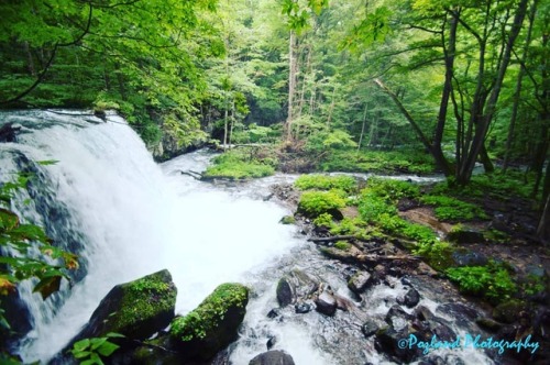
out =
[[(370, 181), (366, 188), (360, 188), (361, 181), (355, 190), (341, 193), (344, 204), (338, 203), (336, 195), (345, 184), (334, 180), (331, 186), (327, 177), (299, 178), (295, 186), (277, 186), (273, 191), (295, 204), (296, 213), (286, 221), (300, 224), (328, 259), (355, 272), (366, 268), (373, 277), (406, 278), (414, 287), (460, 302), (472, 309), (471, 331), (507, 343), (529, 336), (539, 344), (532, 353), (493, 353), (497, 364), (542, 364), (550, 358), (550, 257), (548, 248), (534, 239), (537, 215), (529, 200), (482, 189), (482, 193), (462, 192), (462, 199), (448, 197), (449, 201), (441, 198), (446, 190), (441, 184), (415, 189), (406, 181), (375, 180), (369, 188)], [(305, 208), (311, 193), (324, 211)], [(353, 280), (349, 273), (342, 275)], [(461, 312), (469, 311), (464, 308)], [(392, 339), (405, 336), (397, 332)], [(410, 361), (407, 352), (381, 349), (389, 357)]]

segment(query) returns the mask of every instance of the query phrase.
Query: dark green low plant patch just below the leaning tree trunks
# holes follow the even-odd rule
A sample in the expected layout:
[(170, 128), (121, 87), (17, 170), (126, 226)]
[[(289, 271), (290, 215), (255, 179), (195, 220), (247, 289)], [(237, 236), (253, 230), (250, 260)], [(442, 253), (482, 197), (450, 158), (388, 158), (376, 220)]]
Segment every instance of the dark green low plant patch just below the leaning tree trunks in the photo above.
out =
[(452, 197), (429, 195), (421, 197), (420, 201), (429, 206), (435, 206), (436, 209), (433, 212), (442, 221), (469, 221), (487, 218), (480, 207)]

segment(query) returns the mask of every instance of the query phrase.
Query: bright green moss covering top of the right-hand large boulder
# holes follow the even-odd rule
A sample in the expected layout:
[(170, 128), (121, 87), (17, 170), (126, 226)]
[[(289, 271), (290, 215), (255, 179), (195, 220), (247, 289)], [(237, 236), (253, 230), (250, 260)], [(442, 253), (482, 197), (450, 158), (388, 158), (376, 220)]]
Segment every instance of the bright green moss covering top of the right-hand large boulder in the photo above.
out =
[(232, 308), (242, 308), (249, 300), (249, 289), (240, 284), (222, 284), (195, 310), (172, 322), (170, 334), (182, 341), (205, 339), (216, 331)]

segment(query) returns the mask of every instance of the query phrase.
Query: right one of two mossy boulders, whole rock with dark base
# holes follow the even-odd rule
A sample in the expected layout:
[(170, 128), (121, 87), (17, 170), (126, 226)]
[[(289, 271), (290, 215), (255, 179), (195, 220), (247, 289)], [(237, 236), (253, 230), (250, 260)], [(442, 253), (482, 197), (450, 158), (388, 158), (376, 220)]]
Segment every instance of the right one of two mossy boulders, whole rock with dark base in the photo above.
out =
[(222, 284), (195, 310), (172, 321), (174, 350), (185, 358), (208, 361), (237, 339), (249, 302), (249, 289)]

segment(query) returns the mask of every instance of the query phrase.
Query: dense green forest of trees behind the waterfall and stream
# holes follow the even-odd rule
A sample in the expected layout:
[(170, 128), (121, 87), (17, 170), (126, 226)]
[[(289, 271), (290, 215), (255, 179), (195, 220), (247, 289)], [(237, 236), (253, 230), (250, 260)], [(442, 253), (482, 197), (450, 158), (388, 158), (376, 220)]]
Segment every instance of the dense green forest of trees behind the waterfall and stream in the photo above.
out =
[[(548, 0), (7, 0), (0, 13), (0, 109), (116, 110), (157, 162), (226, 151), (205, 179), (437, 173), (431, 198), (385, 182), (366, 196), (518, 196), (535, 214), (526, 240), (550, 242)], [(334, 229), (319, 201), (300, 204)], [(385, 233), (409, 229), (392, 217)]]

